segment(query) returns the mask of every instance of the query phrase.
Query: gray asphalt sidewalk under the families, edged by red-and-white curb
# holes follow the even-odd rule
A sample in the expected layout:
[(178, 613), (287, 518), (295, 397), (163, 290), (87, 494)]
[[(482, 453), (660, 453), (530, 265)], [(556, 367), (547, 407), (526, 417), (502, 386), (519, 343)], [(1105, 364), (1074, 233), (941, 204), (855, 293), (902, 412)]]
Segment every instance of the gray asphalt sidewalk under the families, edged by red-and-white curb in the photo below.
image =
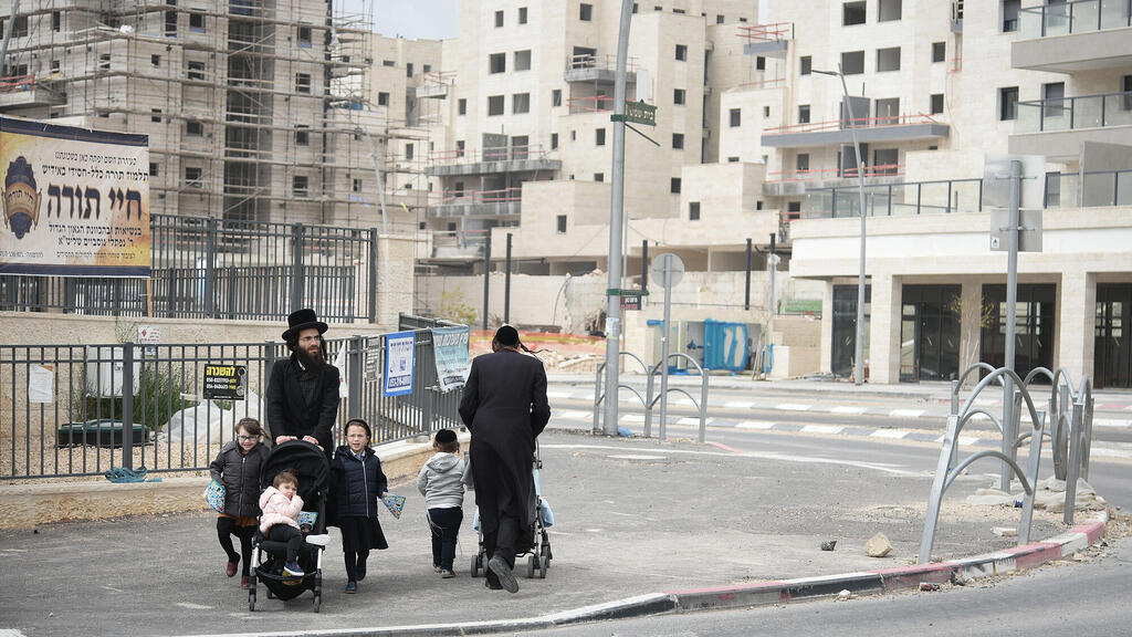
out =
[[(309, 593), (288, 603), (260, 596), (256, 612), (248, 612), (239, 578), (223, 575), (213, 516), (143, 517), (0, 534), (6, 570), (0, 632), (62, 636), (78, 627), (91, 635), (160, 636), (506, 632), (675, 608), (783, 602), (841, 588), (915, 586), (920, 579), (945, 580), (947, 569), (959, 568), (908, 570), (931, 487), (923, 470), (557, 428), (540, 440), (543, 494), (557, 523), (550, 529), (555, 560), (546, 579), (520, 577), (515, 595), (469, 578), (475, 552), (472, 496), (464, 507), (457, 577), (445, 580), (432, 572), (423, 499), (401, 484), (393, 491), (408, 498), (405, 516), (383, 517), (391, 549), (371, 557), (357, 595), (342, 592), (344, 569), (333, 532), (318, 614)], [(950, 560), (1014, 547), (1014, 540), (990, 528), (1015, 526), (1019, 510), (963, 502), (989, 482), (962, 476), (949, 491), (935, 555)], [(1066, 530), (1057, 517), (1036, 512), (1031, 538)], [(877, 532), (894, 546), (886, 558), (863, 552)], [(1079, 532), (1065, 542), (1080, 547), (1097, 532), (1091, 527), (1092, 535)], [(835, 550), (821, 551), (829, 540), (838, 541)], [(984, 560), (979, 568), (1002, 572), (1061, 555), (1050, 547), (1060, 544), (1043, 546), (1037, 553), (1002, 553), (1001, 566)], [(518, 566), (522, 576), (522, 560)], [(834, 574), (852, 575), (805, 579)]]

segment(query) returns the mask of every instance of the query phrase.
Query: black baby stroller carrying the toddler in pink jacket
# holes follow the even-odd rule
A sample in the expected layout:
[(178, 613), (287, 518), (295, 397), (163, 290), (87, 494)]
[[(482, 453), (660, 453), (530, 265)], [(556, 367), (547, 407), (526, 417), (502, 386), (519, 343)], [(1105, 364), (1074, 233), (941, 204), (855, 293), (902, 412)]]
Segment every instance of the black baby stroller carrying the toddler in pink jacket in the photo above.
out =
[[(303, 525), (303, 534), (326, 533), (326, 495), (329, 490), (331, 467), (326, 455), (318, 445), (302, 440), (284, 442), (272, 450), (259, 474), (259, 484), (266, 489), (275, 479), (275, 475), (290, 470), (299, 478), (299, 496), (303, 502), (303, 517), (315, 513), (310, 529)], [(302, 524), (303, 520), (300, 520)], [(267, 587), (267, 597), (293, 600), (303, 591), (315, 592), (315, 612), (323, 601), (323, 546), (303, 543), (299, 551), (299, 566), (306, 572), (294, 577), (283, 571), (286, 560), (286, 544), (264, 538), (258, 530), (252, 540), (256, 566), (251, 581), (248, 585), (248, 610), (256, 610), (256, 583)]]

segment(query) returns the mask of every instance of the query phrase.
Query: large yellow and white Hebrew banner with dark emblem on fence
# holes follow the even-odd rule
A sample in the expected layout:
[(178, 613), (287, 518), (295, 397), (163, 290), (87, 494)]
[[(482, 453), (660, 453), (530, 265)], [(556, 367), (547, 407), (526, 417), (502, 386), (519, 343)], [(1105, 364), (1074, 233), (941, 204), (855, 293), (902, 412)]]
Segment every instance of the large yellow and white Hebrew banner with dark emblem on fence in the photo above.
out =
[(0, 118), (0, 274), (149, 275), (149, 141)]

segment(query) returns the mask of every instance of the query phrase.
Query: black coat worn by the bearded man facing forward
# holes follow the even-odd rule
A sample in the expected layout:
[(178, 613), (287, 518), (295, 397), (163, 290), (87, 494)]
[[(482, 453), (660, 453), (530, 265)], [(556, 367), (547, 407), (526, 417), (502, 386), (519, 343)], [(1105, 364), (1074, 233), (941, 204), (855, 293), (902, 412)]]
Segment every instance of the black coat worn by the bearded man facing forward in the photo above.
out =
[(315, 385), (315, 400), (307, 405), (299, 384), (298, 355), (276, 360), (267, 382), (267, 427), (274, 441), (280, 435), (314, 436), (329, 459), (334, 451), (332, 428), (338, 415), (338, 368), (323, 367)]

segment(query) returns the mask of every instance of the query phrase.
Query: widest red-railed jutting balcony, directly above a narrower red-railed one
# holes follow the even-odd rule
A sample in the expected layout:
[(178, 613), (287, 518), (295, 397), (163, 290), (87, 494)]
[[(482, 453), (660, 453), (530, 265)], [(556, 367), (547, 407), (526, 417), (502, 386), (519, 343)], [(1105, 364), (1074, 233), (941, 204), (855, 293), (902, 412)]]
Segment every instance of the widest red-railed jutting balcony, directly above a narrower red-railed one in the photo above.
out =
[[(779, 148), (852, 144), (852, 131), (848, 121), (846, 118), (767, 128), (763, 130), (762, 144)], [(923, 113), (855, 118), (854, 122), (857, 127), (857, 139), (861, 144), (938, 139), (947, 137), (951, 133), (950, 126)]]

